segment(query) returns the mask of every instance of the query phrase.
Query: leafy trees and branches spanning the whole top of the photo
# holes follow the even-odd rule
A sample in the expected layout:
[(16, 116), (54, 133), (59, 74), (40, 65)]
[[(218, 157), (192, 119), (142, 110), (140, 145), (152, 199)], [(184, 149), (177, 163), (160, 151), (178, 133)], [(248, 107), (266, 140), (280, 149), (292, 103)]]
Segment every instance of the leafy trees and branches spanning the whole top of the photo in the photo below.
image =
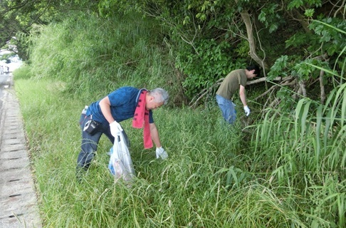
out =
[[(182, 99), (185, 102), (201, 95), (201, 90), (212, 88), (229, 71), (251, 62), (262, 66), (262, 76), (268, 76), (268, 81), (279, 85), (271, 88), (271, 95), (267, 95), (267, 91), (257, 98), (261, 103), (268, 99), (263, 108), (285, 106), (291, 97), (297, 100), (300, 95), (320, 99), (323, 103), (325, 94), (331, 90), (328, 86), (342, 83), (335, 81), (329, 71), (344, 73), (344, 59), (340, 58), (346, 46), (344, 1), (28, 0), (25, 3), (1, 1), (0, 11), (3, 13), (0, 45), (15, 36), (11, 39), (11, 43), (16, 44), (14, 51), (28, 62), (31, 61), (28, 52), (31, 40), (40, 33), (41, 27), (61, 24), (65, 19), (69, 22), (63, 23), (73, 24), (80, 17), (75, 15), (78, 11), (108, 22), (115, 22), (119, 15), (137, 15), (138, 20), (140, 16), (155, 19), (157, 36), (154, 37), (167, 48), (166, 53), (172, 54), (169, 64), (176, 69), (176, 84), (184, 87), (179, 88), (179, 96), (187, 97)], [(113, 32), (116, 34), (108, 29), (106, 37)], [(70, 36), (66, 37), (70, 38), (66, 40), (69, 42), (80, 34), (66, 36)], [(107, 43), (107, 40), (100, 39), (99, 43)], [(109, 45), (112, 44), (106, 44)], [(113, 53), (101, 49), (100, 56), (100, 61), (107, 62)], [(121, 62), (135, 67), (132, 63), (133, 59)], [(88, 67), (82, 70), (88, 71)], [(329, 71), (320, 71), (320, 68)], [(288, 86), (295, 95), (289, 94)]]

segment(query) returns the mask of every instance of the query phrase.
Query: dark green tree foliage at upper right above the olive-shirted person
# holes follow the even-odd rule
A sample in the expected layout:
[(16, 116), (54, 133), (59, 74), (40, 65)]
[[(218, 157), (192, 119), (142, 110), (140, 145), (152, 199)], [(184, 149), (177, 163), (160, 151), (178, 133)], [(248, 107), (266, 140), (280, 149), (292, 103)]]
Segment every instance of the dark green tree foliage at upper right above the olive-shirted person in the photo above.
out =
[[(183, 85), (189, 96), (208, 88), (229, 71), (254, 61), (248, 55), (249, 43), (244, 45), (249, 34), (241, 17), (243, 12), (250, 14), (256, 55), (268, 63), (266, 71), (273, 69), (269, 78), (315, 78), (317, 71), (306, 65), (305, 70), (297, 68), (324, 54), (327, 57), (323, 61), (314, 62), (320, 67), (334, 68), (335, 58), (345, 46), (345, 35), (316, 24), (314, 19), (345, 31), (343, 7), (341, 3), (320, 0), (103, 0), (98, 5), (103, 16), (116, 14), (117, 10), (122, 13), (135, 10), (161, 21), (166, 27), (167, 41), (177, 55), (177, 68), (186, 76)], [(274, 64), (281, 56), (287, 56), (290, 66), (295, 67), (285, 72), (276, 69)]]

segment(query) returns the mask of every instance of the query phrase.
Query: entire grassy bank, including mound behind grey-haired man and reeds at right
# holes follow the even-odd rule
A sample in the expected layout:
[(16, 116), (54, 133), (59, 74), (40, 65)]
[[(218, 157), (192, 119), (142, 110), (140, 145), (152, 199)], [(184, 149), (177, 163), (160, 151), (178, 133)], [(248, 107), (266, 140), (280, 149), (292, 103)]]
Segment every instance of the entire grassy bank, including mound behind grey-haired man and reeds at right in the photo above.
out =
[[(238, 113), (230, 128), (215, 103), (172, 107), (182, 99), (181, 81), (153, 21), (79, 15), (40, 29), (15, 88), (45, 227), (345, 224), (345, 84), (324, 105), (301, 99), (291, 112), (254, 112), (254, 125)], [(144, 150), (142, 131), (127, 121), (135, 184), (114, 183), (106, 138), (78, 184), (80, 111), (125, 85), (169, 90), (171, 105), (154, 111), (169, 159)]]

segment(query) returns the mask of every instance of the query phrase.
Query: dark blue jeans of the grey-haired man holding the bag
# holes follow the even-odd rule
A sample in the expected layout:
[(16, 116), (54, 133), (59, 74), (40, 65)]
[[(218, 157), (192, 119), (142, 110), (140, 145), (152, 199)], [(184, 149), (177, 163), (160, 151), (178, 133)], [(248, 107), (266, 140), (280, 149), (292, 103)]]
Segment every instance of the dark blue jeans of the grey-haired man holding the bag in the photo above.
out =
[[(95, 135), (90, 135), (89, 133), (83, 131), (84, 125), (88, 122), (88, 120), (90, 120), (90, 115), (86, 116), (83, 113), (80, 115), (79, 124), (82, 130), (82, 145), (78, 155), (77, 168), (83, 167), (85, 170), (90, 166), (90, 162), (95, 156), (95, 151), (98, 150), (98, 142), (100, 141), (102, 134), (105, 134), (112, 144), (114, 143), (114, 137), (110, 133), (109, 124), (100, 124)], [(130, 147), (130, 141), (127, 138), (125, 130), (123, 130), (122, 133), (124, 134), (125, 141), (127, 142), (127, 147)]]

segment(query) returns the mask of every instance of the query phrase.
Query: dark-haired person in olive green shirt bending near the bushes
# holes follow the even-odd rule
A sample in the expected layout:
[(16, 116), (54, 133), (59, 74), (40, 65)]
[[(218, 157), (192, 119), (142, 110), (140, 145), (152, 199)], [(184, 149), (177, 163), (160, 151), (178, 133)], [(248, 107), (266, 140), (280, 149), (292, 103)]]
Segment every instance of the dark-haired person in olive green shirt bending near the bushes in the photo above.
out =
[(246, 67), (246, 69), (231, 71), (224, 81), (222, 81), (219, 89), (216, 91), (216, 102), (221, 109), (224, 119), (228, 123), (233, 124), (236, 120), (235, 105), (231, 98), (237, 90), (239, 90), (239, 96), (241, 103), (243, 103), (246, 116), (250, 115), (250, 108), (248, 108), (246, 103), (245, 86), (248, 79), (259, 76), (259, 74), (259, 67), (251, 65)]

